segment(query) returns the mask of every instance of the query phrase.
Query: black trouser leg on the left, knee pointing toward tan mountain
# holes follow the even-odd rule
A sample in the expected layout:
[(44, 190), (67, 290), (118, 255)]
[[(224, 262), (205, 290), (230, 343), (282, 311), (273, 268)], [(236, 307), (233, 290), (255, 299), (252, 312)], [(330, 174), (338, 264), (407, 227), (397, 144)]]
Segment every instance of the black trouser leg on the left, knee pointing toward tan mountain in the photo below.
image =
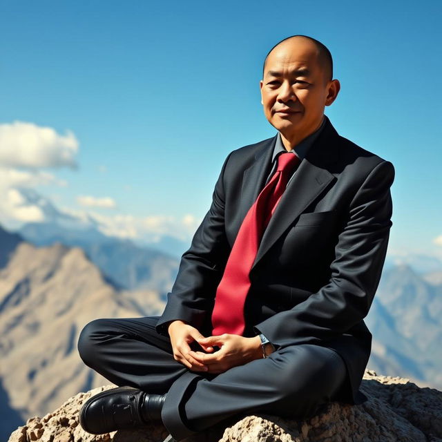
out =
[(164, 394), (189, 370), (172, 354), (169, 337), (155, 330), (158, 317), (97, 319), (82, 330), (84, 363), (116, 385)]

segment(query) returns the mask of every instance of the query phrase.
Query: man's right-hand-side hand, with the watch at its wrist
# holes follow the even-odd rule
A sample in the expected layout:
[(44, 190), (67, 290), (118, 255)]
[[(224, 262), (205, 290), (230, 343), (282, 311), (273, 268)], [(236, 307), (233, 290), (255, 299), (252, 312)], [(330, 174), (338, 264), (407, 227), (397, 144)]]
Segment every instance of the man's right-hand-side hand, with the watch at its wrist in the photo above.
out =
[[(262, 358), (261, 340), (259, 336), (244, 338), (237, 334), (224, 333), (220, 336), (199, 338), (198, 343), (204, 349), (213, 345), (220, 347), (218, 352), (206, 354), (203, 352), (189, 352), (189, 356), (198, 363), (204, 364), (209, 373), (223, 373), (231, 367), (244, 365), (255, 359)], [(209, 347), (207, 347), (209, 346)]]

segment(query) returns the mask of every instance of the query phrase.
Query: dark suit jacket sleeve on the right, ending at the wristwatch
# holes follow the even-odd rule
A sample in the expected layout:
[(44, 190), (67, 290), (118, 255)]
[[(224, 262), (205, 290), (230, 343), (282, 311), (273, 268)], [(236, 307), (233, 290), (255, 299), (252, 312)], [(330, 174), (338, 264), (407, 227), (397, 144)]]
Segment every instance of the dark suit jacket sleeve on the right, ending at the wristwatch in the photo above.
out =
[(338, 236), (327, 285), (294, 308), (257, 324), (277, 348), (336, 338), (367, 316), (381, 278), (392, 226), (394, 167), (378, 163), (356, 191)]

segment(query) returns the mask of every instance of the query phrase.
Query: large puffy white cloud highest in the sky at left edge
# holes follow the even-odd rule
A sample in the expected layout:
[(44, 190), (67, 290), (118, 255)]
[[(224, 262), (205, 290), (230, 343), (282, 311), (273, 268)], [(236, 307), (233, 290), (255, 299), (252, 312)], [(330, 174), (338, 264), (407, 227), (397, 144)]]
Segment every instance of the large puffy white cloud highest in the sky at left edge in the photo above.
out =
[(71, 131), (59, 135), (34, 123), (0, 124), (0, 164), (10, 167), (75, 167), (78, 141)]

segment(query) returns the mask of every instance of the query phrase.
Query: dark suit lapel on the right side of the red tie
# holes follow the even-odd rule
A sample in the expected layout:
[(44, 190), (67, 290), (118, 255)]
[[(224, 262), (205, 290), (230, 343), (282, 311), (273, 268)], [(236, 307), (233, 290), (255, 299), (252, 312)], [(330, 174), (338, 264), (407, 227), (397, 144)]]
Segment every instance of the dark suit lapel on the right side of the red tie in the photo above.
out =
[(307, 209), (307, 206), (334, 180), (334, 175), (329, 172), (328, 168), (337, 159), (334, 149), (334, 140), (337, 136), (332, 124), (327, 121), (323, 133), (311, 146), (307, 156), (300, 163), (293, 179), (282, 194), (262, 236), (252, 269), (302, 211)]

